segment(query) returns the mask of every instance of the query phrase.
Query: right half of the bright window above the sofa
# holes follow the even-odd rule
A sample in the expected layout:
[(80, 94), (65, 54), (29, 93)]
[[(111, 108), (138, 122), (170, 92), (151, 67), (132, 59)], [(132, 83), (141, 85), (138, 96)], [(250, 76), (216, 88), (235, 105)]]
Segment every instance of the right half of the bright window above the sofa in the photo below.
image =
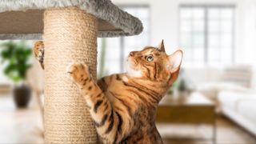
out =
[(227, 64), (233, 58), (233, 8), (210, 8), (208, 26), (208, 61)]

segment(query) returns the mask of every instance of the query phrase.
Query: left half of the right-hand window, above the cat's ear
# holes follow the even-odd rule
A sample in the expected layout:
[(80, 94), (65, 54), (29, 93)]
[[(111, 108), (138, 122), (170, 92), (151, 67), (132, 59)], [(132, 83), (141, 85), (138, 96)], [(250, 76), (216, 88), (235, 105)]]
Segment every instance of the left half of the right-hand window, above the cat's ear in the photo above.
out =
[(180, 45), (184, 48), (184, 60), (189, 63), (204, 62), (205, 10), (201, 7), (182, 8)]

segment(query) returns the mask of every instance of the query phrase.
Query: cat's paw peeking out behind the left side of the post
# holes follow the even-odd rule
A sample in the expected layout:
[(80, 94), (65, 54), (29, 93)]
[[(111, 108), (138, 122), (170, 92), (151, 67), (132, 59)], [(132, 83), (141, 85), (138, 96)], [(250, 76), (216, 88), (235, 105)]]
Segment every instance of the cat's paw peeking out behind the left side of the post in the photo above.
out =
[(40, 62), (42, 69), (44, 69), (44, 64), (43, 64), (43, 57), (44, 57), (44, 44), (42, 41), (38, 41), (34, 43), (34, 56), (35, 58), (38, 59), (38, 62)]

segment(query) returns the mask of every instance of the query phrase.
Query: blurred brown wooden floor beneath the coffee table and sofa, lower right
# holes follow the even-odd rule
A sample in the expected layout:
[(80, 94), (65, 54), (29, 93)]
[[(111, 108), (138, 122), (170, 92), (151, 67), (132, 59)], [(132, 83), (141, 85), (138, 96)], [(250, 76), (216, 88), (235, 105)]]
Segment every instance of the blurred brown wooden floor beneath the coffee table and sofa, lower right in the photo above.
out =
[[(158, 130), (166, 144), (212, 144), (212, 126), (158, 125)], [(256, 144), (256, 138), (237, 126), (230, 119), (218, 116), (217, 144)]]

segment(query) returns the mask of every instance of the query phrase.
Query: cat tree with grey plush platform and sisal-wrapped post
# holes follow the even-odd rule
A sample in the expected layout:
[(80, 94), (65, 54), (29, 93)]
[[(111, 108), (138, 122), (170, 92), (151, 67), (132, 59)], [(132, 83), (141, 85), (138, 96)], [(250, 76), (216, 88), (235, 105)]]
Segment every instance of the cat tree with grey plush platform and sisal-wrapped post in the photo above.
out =
[(96, 143), (97, 135), (77, 86), (71, 62), (86, 62), (96, 79), (97, 36), (142, 32), (138, 18), (110, 0), (2, 0), (0, 39), (45, 42), (45, 142)]

